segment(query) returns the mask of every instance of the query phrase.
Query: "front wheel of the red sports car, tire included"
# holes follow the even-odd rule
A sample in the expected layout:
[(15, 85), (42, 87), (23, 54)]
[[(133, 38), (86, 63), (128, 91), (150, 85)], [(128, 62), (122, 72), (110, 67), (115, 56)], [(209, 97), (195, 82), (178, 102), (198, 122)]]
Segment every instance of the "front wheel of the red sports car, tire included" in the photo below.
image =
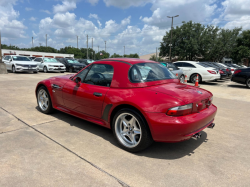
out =
[(54, 111), (52, 107), (49, 92), (45, 86), (41, 86), (37, 93), (37, 105), (40, 111), (44, 114), (50, 114)]

